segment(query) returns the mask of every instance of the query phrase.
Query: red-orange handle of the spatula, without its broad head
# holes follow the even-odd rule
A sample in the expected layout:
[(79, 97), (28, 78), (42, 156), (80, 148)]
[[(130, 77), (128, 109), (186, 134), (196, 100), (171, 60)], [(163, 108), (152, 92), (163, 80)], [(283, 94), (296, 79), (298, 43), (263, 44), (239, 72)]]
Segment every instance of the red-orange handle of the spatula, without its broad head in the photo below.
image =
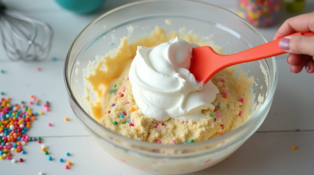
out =
[[(293, 35), (314, 36), (314, 32), (298, 32), (288, 36)], [(286, 52), (279, 47), (279, 41), (283, 38), (284, 37), (253, 47), (251, 49), (244, 50), (236, 54), (225, 55), (226, 61), (229, 60), (230, 64), (240, 64), (285, 54)]]

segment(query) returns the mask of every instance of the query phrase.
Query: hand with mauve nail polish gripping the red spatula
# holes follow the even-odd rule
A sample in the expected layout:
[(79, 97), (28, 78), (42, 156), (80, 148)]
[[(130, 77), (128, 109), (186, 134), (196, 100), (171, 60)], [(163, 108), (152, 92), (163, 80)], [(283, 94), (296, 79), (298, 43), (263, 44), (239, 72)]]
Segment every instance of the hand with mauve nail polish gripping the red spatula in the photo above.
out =
[[(273, 39), (278, 39), (295, 32), (314, 32), (314, 12), (287, 19), (278, 29)], [(293, 73), (306, 69), (314, 73), (314, 36), (289, 36), (279, 41), (279, 47), (290, 53), (287, 62)]]

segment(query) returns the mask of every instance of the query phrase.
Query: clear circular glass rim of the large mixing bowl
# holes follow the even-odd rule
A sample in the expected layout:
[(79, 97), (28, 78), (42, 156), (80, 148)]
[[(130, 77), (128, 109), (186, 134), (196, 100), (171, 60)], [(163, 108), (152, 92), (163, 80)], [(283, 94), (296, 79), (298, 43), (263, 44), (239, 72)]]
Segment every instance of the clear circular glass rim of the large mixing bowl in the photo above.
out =
[[(155, 143), (149, 143), (149, 142), (143, 142), (143, 141), (138, 141), (135, 139), (131, 139), (125, 136), (122, 136), (114, 131), (111, 131), (110, 129), (107, 129), (106, 127), (102, 126), (101, 124), (99, 124), (97, 121), (95, 121), (91, 116), (89, 116), (89, 114), (87, 114), (84, 109), (82, 109), (82, 107), (79, 105), (78, 101), (75, 99), (71, 87), (70, 87), (70, 79), (67, 75), (68, 72), (68, 64), (69, 64), (69, 59), (70, 59), (70, 55), (71, 55), (71, 51), (75, 45), (75, 43), (78, 41), (78, 39), (84, 34), (84, 32), (86, 30), (88, 30), (91, 26), (93, 26), (95, 23), (97, 23), (99, 20), (101, 20), (102, 18), (105, 18), (107, 15), (116, 12), (117, 10), (121, 10), (123, 8), (127, 8), (133, 5), (138, 5), (141, 3), (151, 3), (151, 2), (156, 2), (156, 1), (189, 1), (189, 2), (193, 2), (193, 3), (201, 3), (203, 5), (207, 5), (207, 6), (211, 6), (214, 8), (219, 8), (223, 11), (225, 11), (226, 13), (230, 13), (231, 15), (233, 15), (234, 17), (238, 18), (239, 20), (241, 20), (243, 23), (245, 23), (249, 28), (251, 28), (255, 33), (257, 33), (257, 35), (263, 40), (264, 43), (267, 43), (267, 40), (263, 37), (263, 35), (257, 30), (257, 28), (255, 28), (254, 26), (252, 26), (250, 23), (248, 23), (246, 20), (244, 20), (243, 18), (241, 18), (240, 16), (238, 16), (236, 13), (233, 13), (225, 8), (219, 7), (217, 5), (211, 4), (211, 3), (206, 3), (206, 2), (201, 2), (198, 0), (141, 0), (141, 1), (137, 1), (137, 2), (133, 2), (133, 3), (127, 3), (125, 5), (119, 6), (117, 8), (114, 8), (112, 10), (109, 10), (108, 12), (102, 14), (100, 17), (96, 18), (95, 20), (93, 20), (91, 23), (89, 23), (79, 34), (78, 36), (75, 38), (75, 40), (73, 41), (68, 54), (66, 56), (66, 60), (65, 60), (65, 64), (64, 64), (64, 81), (65, 81), (65, 85), (68, 91), (68, 95), (69, 97), (71, 97), (71, 99), (73, 100), (73, 102), (75, 103), (76, 106), (78, 106), (78, 109), (81, 113), (83, 113), (87, 120), (93, 122), (95, 125), (98, 126), (98, 128), (101, 128), (102, 130), (104, 130), (106, 133), (108, 133), (111, 136), (116, 137), (119, 140), (123, 140), (124, 142), (128, 142), (131, 144), (135, 144), (135, 145), (141, 145), (143, 147), (149, 147), (149, 148), (158, 148), (158, 149), (190, 149), (190, 148), (195, 148), (195, 147), (203, 147), (206, 145), (210, 145), (210, 144), (214, 144), (217, 142), (222, 142), (223, 140), (232, 137), (234, 135), (236, 135), (236, 133), (238, 131), (244, 130), (245, 128), (249, 127), (252, 123), (256, 122), (258, 120), (259, 117), (262, 116), (263, 111), (267, 108), (267, 106), (271, 103), (273, 95), (275, 93), (275, 89), (277, 86), (277, 79), (278, 79), (278, 75), (277, 75), (277, 65), (276, 65), (276, 61), (274, 57), (272, 58), (272, 63), (273, 63), (273, 80), (271, 80), (270, 82), (270, 90), (268, 92), (267, 97), (265, 98), (262, 106), (260, 106), (260, 108), (252, 115), (252, 117), (250, 119), (248, 119), (245, 123), (243, 123), (241, 126), (237, 127), (236, 129), (227, 132), (226, 134), (224, 134), (223, 136), (219, 136), (219, 137), (215, 137), (213, 139), (209, 139), (207, 141), (203, 141), (203, 142), (195, 142), (193, 144), (188, 144), (188, 145), (183, 145), (183, 144), (178, 144), (178, 145), (166, 145), (166, 144), (155, 144)], [(267, 64), (268, 65), (268, 64)], [(74, 65), (72, 65), (71, 67), (73, 67)], [(98, 134), (99, 135), (99, 134)], [(101, 136), (101, 135), (100, 135)], [(103, 139), (107, 140), (107, 138), (101, 136)], [(120, 145), (121, 146), (121, 145)]]

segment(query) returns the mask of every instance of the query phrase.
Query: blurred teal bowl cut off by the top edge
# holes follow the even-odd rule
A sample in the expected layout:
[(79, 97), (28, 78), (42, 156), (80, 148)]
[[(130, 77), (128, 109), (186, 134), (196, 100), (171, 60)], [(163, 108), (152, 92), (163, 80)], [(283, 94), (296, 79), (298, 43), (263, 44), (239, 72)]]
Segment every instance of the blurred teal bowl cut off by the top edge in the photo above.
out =
[(62, 8), (75, 13), (88, 14), (96, 11), (106, 0), (55, 0)]

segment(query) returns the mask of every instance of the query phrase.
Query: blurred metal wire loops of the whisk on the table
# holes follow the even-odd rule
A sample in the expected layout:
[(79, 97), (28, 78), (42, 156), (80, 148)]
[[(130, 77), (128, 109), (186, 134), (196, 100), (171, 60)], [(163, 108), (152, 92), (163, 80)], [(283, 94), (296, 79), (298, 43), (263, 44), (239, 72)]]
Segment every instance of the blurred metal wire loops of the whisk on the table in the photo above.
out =
[(0, 3), (2, 45), (13, 61), (40, 61), (48, 57), (52, 47), (53, 29), (43, 21), (7, 9)]

